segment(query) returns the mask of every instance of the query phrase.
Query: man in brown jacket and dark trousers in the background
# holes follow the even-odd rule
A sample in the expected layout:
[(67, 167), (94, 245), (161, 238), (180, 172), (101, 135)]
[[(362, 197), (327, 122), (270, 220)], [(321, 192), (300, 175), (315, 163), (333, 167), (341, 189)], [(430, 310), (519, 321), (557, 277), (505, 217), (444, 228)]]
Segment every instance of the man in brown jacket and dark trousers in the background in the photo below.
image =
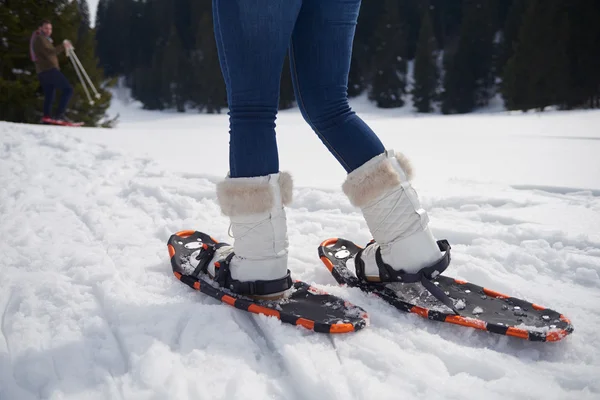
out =
[[(63, 51), (73, 48), (70, 41), (64, 40), (62, 44), (54, 46), (52, 40), (52, 23), (48, 20), (42, 21), (41, 26), (31, 35), (30, 55), (35, 63), (36, 73), (44, 90), (44, 116), (43, 123), (68, 124), (71, 121), (65, 116), (67, 104), (73, 95), (73, 87), (60, 71), (58, 55)], [(54, 93), (61, 91), (56, 116), (52, 117), (52, 104)]]

